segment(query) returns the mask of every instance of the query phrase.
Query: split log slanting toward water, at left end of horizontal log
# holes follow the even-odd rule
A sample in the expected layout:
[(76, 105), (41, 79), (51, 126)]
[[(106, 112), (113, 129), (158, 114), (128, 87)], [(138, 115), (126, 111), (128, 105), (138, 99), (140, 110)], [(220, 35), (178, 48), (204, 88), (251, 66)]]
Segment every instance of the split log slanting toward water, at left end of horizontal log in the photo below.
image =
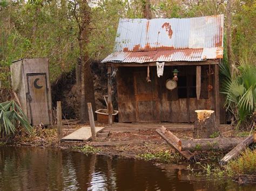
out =
[(171, 131), (167, 130), (164, 126), (159, 129), (156, 129), (157, 133), (176, 151), (178, 151), (183, 157), (187, 160), (194, 158), (194, 155), (190, 151), (181, 151), (181, 141), (178, 137), (173, 135)]

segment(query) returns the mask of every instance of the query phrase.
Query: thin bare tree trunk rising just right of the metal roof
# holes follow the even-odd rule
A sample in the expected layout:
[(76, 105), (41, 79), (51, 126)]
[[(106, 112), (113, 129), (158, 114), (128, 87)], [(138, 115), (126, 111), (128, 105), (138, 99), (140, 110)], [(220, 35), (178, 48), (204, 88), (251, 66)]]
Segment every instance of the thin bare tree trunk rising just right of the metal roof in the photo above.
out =
[(232, 36), (231, 36), (231, 26), (232, 26), (232, 16), (231, 16), (231, 5), (233, 0), (227, 1), (227, 60), (228, 65), (230, 65), (231, 73), (232, 73)]

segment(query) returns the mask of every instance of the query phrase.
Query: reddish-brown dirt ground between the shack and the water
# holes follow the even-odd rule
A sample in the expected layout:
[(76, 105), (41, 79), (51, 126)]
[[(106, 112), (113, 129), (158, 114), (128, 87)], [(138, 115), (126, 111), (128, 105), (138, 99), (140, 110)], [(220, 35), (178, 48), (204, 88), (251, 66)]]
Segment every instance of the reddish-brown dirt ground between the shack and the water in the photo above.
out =
[[(89, 124), (77, 124), (76, 121), (63, 121), (63, 136), (69, 135), (81, 126)], [(39, 146), (39, 147), (58, 147), (61, 149), (76, 150), (81, 152), (86, 145), (90, 151), (98, 154), (109, 155), (111, 157), (129, 157), (144, 159), (161, 159), (172, 162), (186, 162), (179, 154), (176, 153), (156, 132), (156, 129), (164, 125), (174, 135), (181, 139), (193, 138), (193, 124), (171, 124), (171, 123), (154, 123), (154, 124), (118, 124), (107, 126), (99, 124), (96, 126), (105, 126), (104, 132), (110, 132), (108, 137), (97, 137), (97, 143), (116, 143), (122, 144), (112, 146), (95, 146), (95, 142), (58, 142), (56, 129), (42, 129), (37, 127), (30, 136), (19, 135), (16, 137), (16, 145)], [(249, 132), (236, 131), (230, 125), (220, 125), (220, 136), (223, 137), (245, 137)], [(79, 149), (81, 148), (81, 149)], [(87, 152), (83, 150), (82, 152)], [(195, 151), (196, 161), (217, 162), (228, 151)]]

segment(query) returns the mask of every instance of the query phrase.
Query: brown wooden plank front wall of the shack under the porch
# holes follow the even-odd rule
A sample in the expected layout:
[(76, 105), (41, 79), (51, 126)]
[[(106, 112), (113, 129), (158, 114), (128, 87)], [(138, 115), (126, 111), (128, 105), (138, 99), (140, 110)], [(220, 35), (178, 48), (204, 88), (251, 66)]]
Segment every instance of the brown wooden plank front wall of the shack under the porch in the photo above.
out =
[[(165, 82), (172, 79), (174, 68), (179, 70), (178, 87), (170, 91)], [(194, 110), (215, 110), (214, 75), (208, 76), (207, 69), (209, 65), (201, 66), (201, 94), (197, 100), (196, 66), (165, 66), (161, 77), (157, 76), (156, 67), (150, 67), (151, 82), (146, 81), (146, 66), (118, 67), (119, 122), (194, 122)], [(213, 86), (210, 95), (209, 83)]]

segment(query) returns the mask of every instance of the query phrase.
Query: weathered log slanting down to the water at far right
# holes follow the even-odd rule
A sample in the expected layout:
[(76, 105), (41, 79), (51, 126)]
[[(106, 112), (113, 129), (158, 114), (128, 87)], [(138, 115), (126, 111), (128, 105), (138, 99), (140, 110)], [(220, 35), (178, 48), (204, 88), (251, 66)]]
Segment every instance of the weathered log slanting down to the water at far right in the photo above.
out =
[(228, 161), (231, 159), (237, 157), (242, 151), (245, 150), (245, 148), (249, 145), (251, 145), (254, 142), (254, 136), (251, 135), (244, 139), (241, 143), (239, 143), (237, 146), (235, 146), (230, 152), (228, 152), (225, 157), (223, 157), (220, 160), (220, 165), (225, 165), (227, 164)]

